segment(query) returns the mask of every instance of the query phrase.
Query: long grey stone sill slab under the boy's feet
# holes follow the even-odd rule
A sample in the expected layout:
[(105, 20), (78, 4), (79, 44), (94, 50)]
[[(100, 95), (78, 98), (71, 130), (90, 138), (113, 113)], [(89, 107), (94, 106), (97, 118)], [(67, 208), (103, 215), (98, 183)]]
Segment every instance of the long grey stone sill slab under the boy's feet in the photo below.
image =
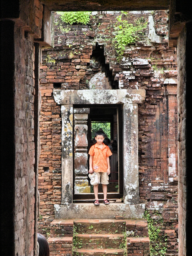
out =
[(55, 204), (54, 211), (56, 219), (104, 219), (115, 218), (117, 215), (124, 218), (143, 218), (145, 204), (111, 203), (105, 205), (101, 203), (99, 206), (89, 203)]

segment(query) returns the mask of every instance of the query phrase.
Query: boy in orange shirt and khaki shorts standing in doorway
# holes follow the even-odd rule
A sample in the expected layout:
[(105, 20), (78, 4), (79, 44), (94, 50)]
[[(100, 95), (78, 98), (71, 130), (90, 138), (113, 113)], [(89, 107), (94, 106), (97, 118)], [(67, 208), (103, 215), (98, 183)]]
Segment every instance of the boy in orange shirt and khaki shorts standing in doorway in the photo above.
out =
[[(104, 204), (109, 204), (109, 200), (107, 199), (107, 184), (109, 184), (108, 175), (110, 174), (110, 162), (109, 156), (112, 155), (110, 148), (106, 146), (104, 141), (104, 133), (102, 131), (98, 131), (95, 133), (96, 144), (91, 146), (89, 150), (90, 158), (89, 158), (89, 173), (96, 172), (98, 176), (98, 180), (102, 184), (103, 195), (104, 195)], [(99, 205), (98, 201), (98, 185), (93, 186), (95, 200), (94, 205)]]

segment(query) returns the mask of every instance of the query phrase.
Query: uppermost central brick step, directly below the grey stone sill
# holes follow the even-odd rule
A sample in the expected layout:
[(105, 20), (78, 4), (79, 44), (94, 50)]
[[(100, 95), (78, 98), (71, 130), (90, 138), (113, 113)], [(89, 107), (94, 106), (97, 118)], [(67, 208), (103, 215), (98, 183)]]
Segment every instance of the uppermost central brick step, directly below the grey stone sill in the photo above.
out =
[(122, 234), (126, 230), (126, 220), (74, 220), (74, 228), (78, 234)]

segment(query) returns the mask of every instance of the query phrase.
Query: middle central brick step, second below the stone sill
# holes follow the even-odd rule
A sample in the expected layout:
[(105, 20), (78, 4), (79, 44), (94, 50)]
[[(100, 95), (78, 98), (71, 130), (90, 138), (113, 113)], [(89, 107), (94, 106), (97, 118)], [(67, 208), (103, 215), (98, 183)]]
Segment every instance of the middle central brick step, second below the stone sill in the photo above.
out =
[[(82, 248), (94, 249), (119, 249), (123, 244), (123, 234), (77, 234), (77, 240), (80, 242)], [(122, 248), (122, 247), (121, 247)]]

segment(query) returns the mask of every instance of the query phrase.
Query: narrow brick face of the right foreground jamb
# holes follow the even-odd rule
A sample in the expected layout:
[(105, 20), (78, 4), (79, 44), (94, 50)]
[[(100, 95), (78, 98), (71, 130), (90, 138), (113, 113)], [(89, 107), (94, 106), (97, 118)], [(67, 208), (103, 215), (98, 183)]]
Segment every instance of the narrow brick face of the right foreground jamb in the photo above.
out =
[(180, 190), (179, 194), (179, 238), (183, 241), (180, 243), (180, 255), (186, 254), (186, 29), (178, 39), (178, 172)]

